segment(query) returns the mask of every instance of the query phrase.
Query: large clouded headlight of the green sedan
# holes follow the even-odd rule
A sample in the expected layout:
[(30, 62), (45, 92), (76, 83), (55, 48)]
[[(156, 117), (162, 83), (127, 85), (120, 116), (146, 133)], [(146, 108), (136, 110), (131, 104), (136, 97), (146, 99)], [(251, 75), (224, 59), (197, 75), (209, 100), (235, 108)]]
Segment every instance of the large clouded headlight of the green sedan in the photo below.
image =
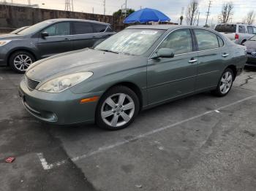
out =
[(38, 90), (49, 93), (60, 93), (67, 90), (69, 87), (83, 82), (83, 80), (89, 79), (92, 75), (92, 72), (86, 71), (57, 77), (56, 79), (50, 79), (50, 81), (45, 82), (45, 84), (41, 85)]

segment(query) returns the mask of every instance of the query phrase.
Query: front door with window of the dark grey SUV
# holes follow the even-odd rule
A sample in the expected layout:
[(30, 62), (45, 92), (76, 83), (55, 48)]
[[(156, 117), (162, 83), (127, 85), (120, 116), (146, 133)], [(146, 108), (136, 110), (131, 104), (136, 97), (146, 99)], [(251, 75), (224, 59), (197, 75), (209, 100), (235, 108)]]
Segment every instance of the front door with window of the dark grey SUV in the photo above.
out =
[(45, 38), (39, 35), (37, 49), (41, 58), (72, 50), (69, 22), (55, 23), (41, 32), (47, 32), (49, 34)]

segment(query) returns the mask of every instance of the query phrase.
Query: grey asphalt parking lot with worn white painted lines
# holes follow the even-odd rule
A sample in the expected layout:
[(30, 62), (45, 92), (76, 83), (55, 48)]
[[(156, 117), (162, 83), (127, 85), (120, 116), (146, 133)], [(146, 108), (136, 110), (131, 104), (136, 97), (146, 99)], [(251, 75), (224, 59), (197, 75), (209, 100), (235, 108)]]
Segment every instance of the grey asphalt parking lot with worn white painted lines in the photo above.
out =
[(21, 78), (0, 68), (0, 190), (255, 190), (256, 69), (224, 98), (157, 106), (118, 131), (37, 121), (18, 97)]

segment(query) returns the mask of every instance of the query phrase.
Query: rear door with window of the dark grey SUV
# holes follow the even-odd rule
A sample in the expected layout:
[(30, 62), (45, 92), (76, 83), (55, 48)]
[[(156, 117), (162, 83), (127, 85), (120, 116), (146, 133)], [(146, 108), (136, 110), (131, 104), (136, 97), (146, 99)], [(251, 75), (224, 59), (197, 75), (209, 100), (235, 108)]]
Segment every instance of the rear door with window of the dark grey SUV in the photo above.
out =
[(74, 50), (92, 47), (96, 42), (94, 28), (89, 22), (72, 22), (72, 44)]

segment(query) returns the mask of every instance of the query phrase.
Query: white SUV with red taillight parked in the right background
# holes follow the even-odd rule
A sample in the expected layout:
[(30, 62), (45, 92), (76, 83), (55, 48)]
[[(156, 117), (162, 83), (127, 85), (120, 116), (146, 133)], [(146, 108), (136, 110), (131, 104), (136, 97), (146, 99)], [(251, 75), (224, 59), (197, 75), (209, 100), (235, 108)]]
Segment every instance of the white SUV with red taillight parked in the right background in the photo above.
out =
[(241, 23), (221, 23), (215, 27), (218, 31), (236, 44), (243, 44), (256, 34), (256, 27)]

